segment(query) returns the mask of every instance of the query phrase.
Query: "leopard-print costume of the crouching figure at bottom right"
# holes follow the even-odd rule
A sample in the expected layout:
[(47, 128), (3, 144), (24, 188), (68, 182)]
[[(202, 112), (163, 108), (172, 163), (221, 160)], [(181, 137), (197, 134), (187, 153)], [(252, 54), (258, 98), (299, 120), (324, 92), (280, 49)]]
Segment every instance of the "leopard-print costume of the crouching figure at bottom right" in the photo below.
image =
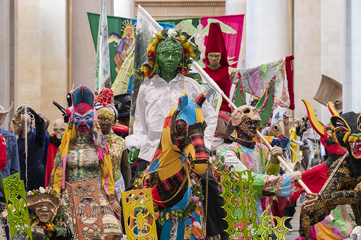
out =
[[(340, 160), (341, 158), (331, 165), (328, 172), (329, 177)], [(319, 196), (314, 206), (314, 212), (307, 213), (306, 210), (301, 207), (300, 236), (308, 240), (310, 229), (313, 225), (323, 221), (337, 205), (345, 204), (351, 205), (356, 218), (355, 222), (360, 226), (361, 176), (358, 178), (353, 177), (350, 171), (349, 158), (344, 160), (333, 179), (327, 185), (325, 191)]]

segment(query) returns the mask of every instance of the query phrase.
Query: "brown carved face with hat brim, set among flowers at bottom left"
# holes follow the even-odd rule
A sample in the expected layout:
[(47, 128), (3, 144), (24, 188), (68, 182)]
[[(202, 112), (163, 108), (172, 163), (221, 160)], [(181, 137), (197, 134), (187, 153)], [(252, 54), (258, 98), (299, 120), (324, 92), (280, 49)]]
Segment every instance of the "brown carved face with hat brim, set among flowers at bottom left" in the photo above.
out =
[(43, 223), (53, 221), (58, 213), (59, 202), (48, 193), (32, 195), (26, 201), (28, 208), (34, 210)]

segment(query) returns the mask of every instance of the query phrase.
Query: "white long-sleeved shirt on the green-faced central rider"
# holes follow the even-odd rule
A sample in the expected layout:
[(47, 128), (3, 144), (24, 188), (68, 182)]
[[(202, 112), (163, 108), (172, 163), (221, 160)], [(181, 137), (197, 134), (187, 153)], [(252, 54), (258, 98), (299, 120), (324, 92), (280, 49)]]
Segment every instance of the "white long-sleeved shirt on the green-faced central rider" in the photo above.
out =
[[(196, 80), (188, 77), (184, 77), (182, 90), (181, 74), (177, 74), (169, 83), (158, 74), (150, 80), (145, 80), (140, 85), (136, 99), (133, 134), (125, 138), (126, 148), (140, 149), (138, 158), (151, 161), (162, 136), (165, 117), (185, 92), (189, 98), (195, 99), (203, 90)], [(208, 125), (204, 132), (204, 142), (206, 148), (211, 149), (217, 127), (217, 115), (207, 100), (203, 103), (202, 110)]]

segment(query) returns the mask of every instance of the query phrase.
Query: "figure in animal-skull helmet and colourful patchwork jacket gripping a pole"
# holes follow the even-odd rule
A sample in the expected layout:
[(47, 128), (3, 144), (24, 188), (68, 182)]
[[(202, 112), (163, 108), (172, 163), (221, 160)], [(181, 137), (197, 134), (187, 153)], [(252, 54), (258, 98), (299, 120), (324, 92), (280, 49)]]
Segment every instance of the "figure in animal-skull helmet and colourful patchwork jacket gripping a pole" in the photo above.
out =
[[(269, 199), (264, 196), (289, 197), (293, 193), (294, 180), (301, 179), (299, 171), (277, 177), (280, 162), (276, 155), (282, 156), (282, 148), (274, 146), (269, 151), (265, 145), (253, 141), (260, 120), (254, 107), (243, 105), (237, 108), (232, 113), (232, 124), (236, 127), (237, 138), (233, 144), (221, 150), (221, 159), (225, 164), (233, 165), (234, 170), (253, 168), (252, 172), (255, 174), (252, 176), (256, 179), (253, 188), (257, 190), (260, 187), (257, 191), (260, 198), (257, 199), (257, 210), (262, 209), (261, 205), (267, 207), (270, 204)], [(261, 215), (264, 210), (265, 208), (258, 214)]]

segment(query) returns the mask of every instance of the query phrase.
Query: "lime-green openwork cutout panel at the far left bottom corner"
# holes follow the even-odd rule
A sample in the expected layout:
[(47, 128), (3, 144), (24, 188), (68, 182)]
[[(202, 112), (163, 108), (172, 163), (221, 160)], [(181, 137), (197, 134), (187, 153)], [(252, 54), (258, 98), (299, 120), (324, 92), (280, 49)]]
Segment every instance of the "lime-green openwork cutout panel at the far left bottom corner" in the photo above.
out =
[(20, 175), (17, 172), (2, 179), (2, 182), (11, 236), (23, 231), (32, 240), (24, 181), (20, 180)]

